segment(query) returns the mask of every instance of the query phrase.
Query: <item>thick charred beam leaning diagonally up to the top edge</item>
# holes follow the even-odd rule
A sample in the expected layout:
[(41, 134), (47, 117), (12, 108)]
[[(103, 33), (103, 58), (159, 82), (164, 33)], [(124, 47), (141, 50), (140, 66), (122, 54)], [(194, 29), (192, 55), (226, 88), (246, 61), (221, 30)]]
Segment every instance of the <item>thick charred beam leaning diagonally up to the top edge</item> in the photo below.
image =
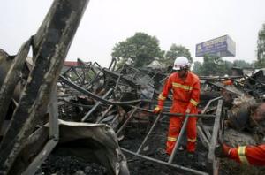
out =
[(34, 125), (46, 112), (52, 87), (89, 0), (55, 0), (34, 35), (34, 68), (0, 146), (0, 174), (8, 174)]

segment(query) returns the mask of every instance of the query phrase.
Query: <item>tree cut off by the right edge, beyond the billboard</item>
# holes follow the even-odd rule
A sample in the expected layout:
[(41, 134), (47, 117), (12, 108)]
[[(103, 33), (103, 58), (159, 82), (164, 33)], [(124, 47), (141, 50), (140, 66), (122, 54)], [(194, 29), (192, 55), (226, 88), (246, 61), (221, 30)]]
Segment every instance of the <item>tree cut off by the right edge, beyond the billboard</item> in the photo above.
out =
[(263, 24), (258, 34), (258, 50), (257, 50), (257, 62), (255, 66), (257, 68), (265, 67), (265, 24)]

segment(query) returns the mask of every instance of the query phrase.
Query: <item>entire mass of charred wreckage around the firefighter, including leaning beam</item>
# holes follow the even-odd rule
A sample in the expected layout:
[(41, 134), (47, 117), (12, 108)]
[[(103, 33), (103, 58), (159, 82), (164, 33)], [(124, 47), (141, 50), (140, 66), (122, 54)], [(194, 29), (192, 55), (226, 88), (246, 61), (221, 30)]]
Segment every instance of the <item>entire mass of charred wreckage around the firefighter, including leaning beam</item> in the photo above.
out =
[(87, 3), (55, 0), (16, 56), (0, 50), (0, 174), (218, 174), (226, 127), (264, 139), (263, 70), (201, 77), (196, 158), (179, 150), (194, 114), (164, 155), (169, 117), (183, 116), (169, 112), (171, 95), (153, 114), (170, 72), (118, 68), (116, 59), (108, 68), (78, 59), (62, 69)]

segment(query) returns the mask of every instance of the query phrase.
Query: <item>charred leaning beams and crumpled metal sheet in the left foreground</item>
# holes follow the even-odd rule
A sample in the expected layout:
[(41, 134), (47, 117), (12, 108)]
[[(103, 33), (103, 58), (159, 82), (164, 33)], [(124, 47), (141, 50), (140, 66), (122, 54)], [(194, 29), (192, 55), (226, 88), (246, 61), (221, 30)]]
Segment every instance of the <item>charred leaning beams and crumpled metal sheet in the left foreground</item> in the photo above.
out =
[[(42, 26), (22, 45), (18, 55), (10, 57), (2, 51), (0, 174), (34, 174), (53, 149), (71, 148), (68, 155), (75, 155), (76, 150), (86, 155), (87, 145), (93, 144), (102, 145), (93, 154), (102, 149), (95, 157), (104, 157), (97, 161), (109, 174), (127, 173), (125, 156), (109, 126), (57, 119), (57, 79), (87, 3), (54, 1)], [(26, 65), (30, 47), (31, 68)], [(17, 90), (19, 98), (15, 99), (12, 96)], [(47, 120), (49, 123), (44, 125)], [(79, 141), (79, 149), (71, 147), (73, 141)]]

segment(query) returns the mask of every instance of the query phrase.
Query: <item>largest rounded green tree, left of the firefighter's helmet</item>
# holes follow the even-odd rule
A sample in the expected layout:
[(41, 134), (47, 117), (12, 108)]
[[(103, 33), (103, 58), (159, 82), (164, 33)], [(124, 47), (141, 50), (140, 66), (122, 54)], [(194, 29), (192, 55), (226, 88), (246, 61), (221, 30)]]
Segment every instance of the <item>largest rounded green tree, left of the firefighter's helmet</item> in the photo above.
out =
[(142, 67), (150, 64), (155, 57), (163, 57), (163, 51), (155, 36), (136, 33), (125, 41), (118, 42), (112, 49), (111, 56), (124, 63), (132, 60), (132, 65)]

